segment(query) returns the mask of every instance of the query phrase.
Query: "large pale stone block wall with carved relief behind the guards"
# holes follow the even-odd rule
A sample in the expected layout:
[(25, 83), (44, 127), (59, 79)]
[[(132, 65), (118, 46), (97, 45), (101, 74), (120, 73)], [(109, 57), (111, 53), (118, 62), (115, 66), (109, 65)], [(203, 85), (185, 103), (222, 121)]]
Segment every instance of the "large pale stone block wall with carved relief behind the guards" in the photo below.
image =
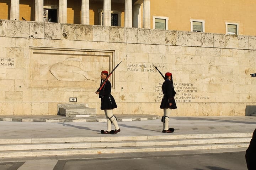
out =
[(256, 37), (175, 30), (0, 20), (0, 114), (48, 115), (87, 103), (111, 71), (114, 114), (156, 114), (173, 73), (175, 116), (250, 115), (256, 109)]

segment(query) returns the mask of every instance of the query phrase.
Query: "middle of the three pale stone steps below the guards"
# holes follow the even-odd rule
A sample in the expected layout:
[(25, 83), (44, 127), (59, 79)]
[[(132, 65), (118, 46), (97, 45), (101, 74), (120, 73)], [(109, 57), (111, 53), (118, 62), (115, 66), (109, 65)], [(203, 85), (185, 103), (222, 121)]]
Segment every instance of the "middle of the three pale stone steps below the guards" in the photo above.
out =
[(250, 137), (240, 138), (208, 138), (208, 139), (182, 139), (172, 141), (116, 141), (116, 142), (86, 142), (86, 143), (47, 143), (47, 144), (18, 144), (0, 145), (0, 151), (25, 151), (25, 150), (54, 150), (54, 149), (82, 149), (82, 148), (109, 148), (109, 147), (145, 147), (145, 146), (178, 146), (201, 144), (227, 144), (249, 143)]

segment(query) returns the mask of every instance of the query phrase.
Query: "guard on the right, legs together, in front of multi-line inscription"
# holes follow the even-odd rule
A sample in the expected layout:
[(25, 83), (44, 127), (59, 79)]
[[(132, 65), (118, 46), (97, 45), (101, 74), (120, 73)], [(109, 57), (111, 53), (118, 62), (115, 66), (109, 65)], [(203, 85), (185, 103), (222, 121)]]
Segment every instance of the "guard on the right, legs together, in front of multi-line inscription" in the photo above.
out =
[(171, 114), (171, 109), (177, 109), (174, 96), (176, 92), (174, 90), (173, 81), (172, 81), (172, 74), (167, 72), (165, 73), (165, 81), (162, 84), (162, 93), (164, 97), (162, 98), (162, 102), (160, 105), (161, 109), (164, 109), (164, 115), (162, 116), (162, 123), (163, 123), (163, 133), (172, 133), (174, 132), (174, 128), (169, 128), (169, 117)]

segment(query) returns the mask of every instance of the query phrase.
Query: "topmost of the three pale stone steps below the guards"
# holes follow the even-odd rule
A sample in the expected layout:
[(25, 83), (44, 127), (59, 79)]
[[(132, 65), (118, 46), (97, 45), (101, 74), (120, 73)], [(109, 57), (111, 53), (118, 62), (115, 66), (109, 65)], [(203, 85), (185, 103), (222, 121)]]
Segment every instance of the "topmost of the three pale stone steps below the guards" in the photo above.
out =
[(157, 136), (102, 136), (102, 137), (60, 137), (60, 138), (17, 138), (0, 139), (1, 144), (25, 143), (67, 143), (67, 142), (108, 142), (108, 141), (139, 141), (139, 140), (177, 140), (177, 139), (203, 139), (225, 137), (252, 137), (252, 133), (228, 134), (184, 134), (184, 135), (157, 135)]

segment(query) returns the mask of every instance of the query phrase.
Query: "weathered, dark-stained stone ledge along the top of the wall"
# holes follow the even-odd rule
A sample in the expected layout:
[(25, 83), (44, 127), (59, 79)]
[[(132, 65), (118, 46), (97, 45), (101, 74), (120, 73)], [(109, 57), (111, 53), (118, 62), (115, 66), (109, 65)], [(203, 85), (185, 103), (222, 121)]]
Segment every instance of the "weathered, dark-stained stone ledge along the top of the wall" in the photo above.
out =
[[(0, 19), (0, 36), (255, 50), (255, 36)], [(18, 29), (17, 29), (18, 28)], [(19, 30), (19, 31), (17, 31)], [(64, 36), (65, 34), (65, 36)], [(146, 37), (146, 38), (145, 38)]]

